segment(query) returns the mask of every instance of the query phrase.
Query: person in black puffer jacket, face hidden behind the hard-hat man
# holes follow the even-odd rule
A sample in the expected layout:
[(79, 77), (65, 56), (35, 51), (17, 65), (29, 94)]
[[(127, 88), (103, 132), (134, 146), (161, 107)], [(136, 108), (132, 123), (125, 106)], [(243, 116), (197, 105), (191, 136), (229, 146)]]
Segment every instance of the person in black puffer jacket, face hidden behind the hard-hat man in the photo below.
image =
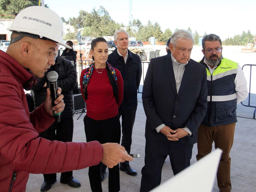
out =
[[(47, 130), (39, 133), (40, 137), (49, 140), (59, 140), (63, 142), (72, 141), (73, 137), (73, 116), (74, 116), (74, 106), (73, 106), (73, 89), (76, 84), (76, 69), (71, 64), (69, 60), (62, 59), (57, 56), (59, 45), (56, 45), (56, 49), (53, 53), (55, 58), (55, 65), (52, 65), (47, 72), (45, 72), (43, 78), (38, 78), (36, 86), (32, 87), (31, 94), (34, 99), (35, 108), (40, 106), (46, 99), (46, 89), (49, 85), (49, 81), (46, 76), (50, 71), (56, 71), (59, 75), (58, 77), (58, 87), (61, 88), (61, 94), (64, 95), (65, 108), (61, 113), (60, 123), (54, 122)], [(56, 131), (56, 133), (55, 133)], [(44, 183), (41, 186), (41, 191), (47, 191), (52, 187), (52, 184), (56, 181), (56, 173), (44, 174)], [(73, 178), (72, 171), (63, 172), (60, 176), (60, 182), (66, 183), (70, 187), (80, 187), (79, 181)]]

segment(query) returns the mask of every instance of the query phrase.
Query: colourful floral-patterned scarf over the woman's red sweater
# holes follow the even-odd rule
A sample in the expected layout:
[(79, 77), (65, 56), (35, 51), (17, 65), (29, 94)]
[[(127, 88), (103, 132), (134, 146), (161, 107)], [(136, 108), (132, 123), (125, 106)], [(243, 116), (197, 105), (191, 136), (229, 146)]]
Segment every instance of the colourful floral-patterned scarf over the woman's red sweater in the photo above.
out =
[[(116, 102), (117, 102), (117, 91), (118, 91), (118, 85), (117, 85), (117, 77), (116, 77), (116, 71), (115, 69), (108, 63), (106, 62), (106, 67), (107, 67), (107, 70), (108, 70), (108, 78), (109, 78), (109, 81), (113, 87), (113, 91), (114, 91), (114, 95), (115, 95), (115, 98), (116, 98)], [(94, 69), (94, 63), (92, 63), (85, 71), (84, 73), (84, 77), (83, 77), (83, 83), (82, 83), (82, 86), (83, 86), (83, 93), (84, 93), (84, 98), (87, 99), (87, 96), (88, 96), (88, 93), (87, 93), (87, 86), (89, 84), (89, 81), (91, 79), (91, 76), (92, 76), (92, 72), (93, 72), (93, 69)], [(113, 84), (113, 78), (111, 79), (110, 76), (109, 76), (109, 73), (111, 73), (114, 77), (114, 80), (116, 82), (116, 84)], [(116, 90), (116, 91), (115, 91)]]

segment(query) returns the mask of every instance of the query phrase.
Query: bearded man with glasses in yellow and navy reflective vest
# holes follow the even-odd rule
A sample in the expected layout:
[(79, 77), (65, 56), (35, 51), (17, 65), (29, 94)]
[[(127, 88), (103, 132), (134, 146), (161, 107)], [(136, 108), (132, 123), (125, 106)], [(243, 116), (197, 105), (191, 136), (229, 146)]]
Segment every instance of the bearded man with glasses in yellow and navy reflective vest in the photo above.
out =
[(208, 87), (207, 112), (198, 128), (196, 159), (199, 160), (215, 148), (223, 153), (217, 172), (218, 187), (221, 192), (231, 191), (230, 150), (233, 145), (236, 125), (236, 104), (245, 100), (248, 91), (244, 72), (238, 63), (222, 57), (220, 37), (205, 35), (202, 40), (203, 59), (206, 67)]

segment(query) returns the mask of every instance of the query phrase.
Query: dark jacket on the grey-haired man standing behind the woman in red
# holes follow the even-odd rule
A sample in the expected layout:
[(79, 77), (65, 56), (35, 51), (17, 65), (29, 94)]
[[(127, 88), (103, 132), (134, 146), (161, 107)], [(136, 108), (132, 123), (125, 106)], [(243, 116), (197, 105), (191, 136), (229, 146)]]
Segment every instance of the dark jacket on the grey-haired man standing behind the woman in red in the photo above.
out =
[(115, 51), (108, 55), (108, 63), (117, 68), (124, 81), (124, 98), (119, 110), (132, 109), (137, 107), (137, 90), (140, 86), (142, 67), (140, 57), (128, 50), (126, 64), (124, 57)]

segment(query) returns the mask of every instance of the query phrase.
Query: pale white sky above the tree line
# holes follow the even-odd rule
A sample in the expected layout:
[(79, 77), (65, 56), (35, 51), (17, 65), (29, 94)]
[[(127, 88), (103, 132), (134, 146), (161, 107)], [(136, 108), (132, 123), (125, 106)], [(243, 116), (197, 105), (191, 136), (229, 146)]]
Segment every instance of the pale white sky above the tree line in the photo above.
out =
[[(49, 8), (68, 20), (77, 17), (80, 10), (91, 12), (103, 6), (113, 20), (129, 23), (129, 0), (44, 0)], [(222, 40), (247, 32), (256, 34), (256, 0), (133, 0), (133, 19), (142, 25), (157, 21), (162, 31), (191, 28), (200, 35), (215, 33)]]

